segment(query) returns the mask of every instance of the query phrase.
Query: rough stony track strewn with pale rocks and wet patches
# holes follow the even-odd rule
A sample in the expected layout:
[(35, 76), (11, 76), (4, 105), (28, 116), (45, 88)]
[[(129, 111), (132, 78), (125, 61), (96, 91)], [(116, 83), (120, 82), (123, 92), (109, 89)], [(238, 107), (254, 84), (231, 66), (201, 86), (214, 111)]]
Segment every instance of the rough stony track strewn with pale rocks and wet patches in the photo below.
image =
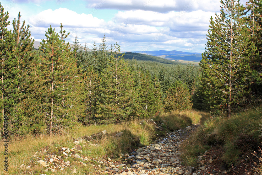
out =
[(128, 168), (127, 164), (122, 164), (121, 162), (112, 162), (111, 159), (108, 159), (109, 161), (107, 160), (105, 162), (108, 164), (108, 166), (102, 169), (101, 173), (120, 175), (203, 174), (207, 172), (205, 168), (202, 167), (204, 171), (200, 169), (195, 171), (195, 168), (193, 167), (190, 169), (190, 167), (183, 166), (180, 159), (182, 141), (197, 126), (198, 125), (191, 126), (192, 129), (190, 130), (180, 129), (178, 131), (170, 132), (165, 137), (161, 137), (160, 139), (156, 140), (154, 144), (151, 144), (150, 146), (134, 150), (134, 152), (130, 155), (123, 155), (126, 158), (126, 163), (130, 159), (133, 161), (130, 164), (131, 167), (129, 166), (130, 168)]

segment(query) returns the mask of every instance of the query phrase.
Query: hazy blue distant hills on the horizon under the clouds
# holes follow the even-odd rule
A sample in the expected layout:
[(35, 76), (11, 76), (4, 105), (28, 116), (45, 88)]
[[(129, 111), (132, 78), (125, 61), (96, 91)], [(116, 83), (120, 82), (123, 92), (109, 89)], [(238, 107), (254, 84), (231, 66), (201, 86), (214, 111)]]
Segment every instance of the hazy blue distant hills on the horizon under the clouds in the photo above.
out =
[(199, 62), (202, 59), (200, 52), (182, 52), (178, 50), (153, 50), (153, 51), (134, 51), (135, 53), (161, 56), (168, 60), (184, 60)]

